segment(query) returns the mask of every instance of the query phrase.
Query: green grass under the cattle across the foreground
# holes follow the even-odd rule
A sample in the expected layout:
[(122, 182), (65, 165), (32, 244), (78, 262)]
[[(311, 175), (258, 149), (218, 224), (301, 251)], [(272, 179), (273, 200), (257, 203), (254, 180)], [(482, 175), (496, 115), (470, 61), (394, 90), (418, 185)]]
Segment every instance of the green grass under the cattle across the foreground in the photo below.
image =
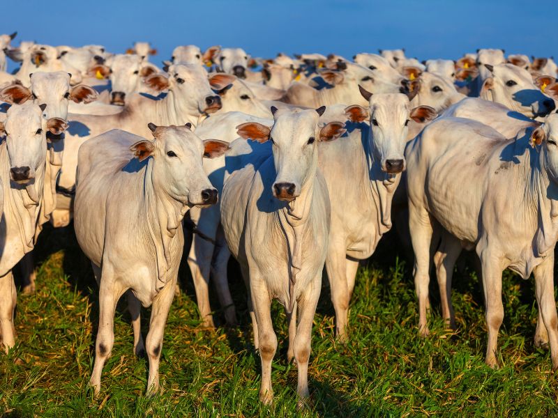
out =
[[(500, 368), (483, 362), (486, 333), (480, 285), (473, 270), (454, 277), (458, 330), (444, 329), (437, 285), (431, 283), (431, 335), (417, 336), (416, 298), (409, 263), (393, 237), (359, 269), (351, 304), (349, 343), (333, 338), (333, 309), (324, 280), (314, 321), (309, 380), (311, 406), (296, 410), (296, 366), (288, 364), (287, 324), (274, 306), (279, 350), (273, 362), (275, 402), (259, 405), (259, 357), (252, 346), (246, 291), (234, 263), (230, 284), (241, 325), (202, 329), (186, 265), (182, 293), (165, 328), (162, 394), (144, 396), (147, 362), (133, 355), (126, 304), (119, 304), (112, 357), (102, 389), (87, 387), (98, 320), (98, 292), (89, 263), (70, 229), (45, 229), (38, 245), (34, 295), (18, 295), (17, 346), (0, 354), (0, 415), (375, 417), (558, 415), (558, 380), (550, 355), (534, 347), (532, 280), (504, 274)], [(467, 265), (465, 265), (467, 266)], [(212, 306), (218, 307), (212, 295)], [(144, 336), (149, 310), (142, 311)], [(216, 311), (217, 322), (221, 314)]]

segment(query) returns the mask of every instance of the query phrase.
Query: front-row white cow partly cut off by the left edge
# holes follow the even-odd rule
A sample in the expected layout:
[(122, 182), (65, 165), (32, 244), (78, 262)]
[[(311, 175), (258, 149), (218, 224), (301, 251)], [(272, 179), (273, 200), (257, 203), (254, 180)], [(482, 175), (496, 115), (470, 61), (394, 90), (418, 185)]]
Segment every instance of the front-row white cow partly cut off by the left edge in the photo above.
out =
[(0, 219), (0, 332), (6, 348), (15, 344), (13, 312), (16, 303), (12, 269), (35, 245), (40, 226), (50, 214), (45, 208), (48, 181), (47, 131), (61, 134), (66, 123), (43, 116), (46, 105), (29, 101), (8, 109), (0, 134), (0, 182), (3, 215)]

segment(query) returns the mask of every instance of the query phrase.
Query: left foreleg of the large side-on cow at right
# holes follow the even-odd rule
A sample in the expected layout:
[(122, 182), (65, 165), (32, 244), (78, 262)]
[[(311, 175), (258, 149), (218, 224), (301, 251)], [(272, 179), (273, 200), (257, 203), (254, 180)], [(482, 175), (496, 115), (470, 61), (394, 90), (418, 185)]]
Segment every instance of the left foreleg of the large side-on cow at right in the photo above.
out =
[(498, 348), (498, 331), (504, 320), (502, 304), (502, 266), (497, 258), (490, 256), (488, 251), (481, 254), (483, 266), (483, 291), (486, 305), (486, 326), (488, 328), (488, 346), (485, 362), (488, 366), (497, 366), (496, 350)]

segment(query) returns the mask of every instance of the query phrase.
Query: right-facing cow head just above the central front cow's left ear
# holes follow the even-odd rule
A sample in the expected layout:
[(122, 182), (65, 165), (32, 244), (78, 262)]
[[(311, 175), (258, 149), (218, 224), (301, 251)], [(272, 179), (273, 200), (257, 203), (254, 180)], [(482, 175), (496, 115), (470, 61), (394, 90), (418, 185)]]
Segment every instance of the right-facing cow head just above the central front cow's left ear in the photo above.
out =
[(219, 95), (223, 104), (219, 113), (242, 111), (262, 118), (269, 117), (269, 108), (264, 106), (260, 100), (257, 100), (250, 88), (234, 75), (213, 74), (209, 77), (209, 84), (213, 91)]

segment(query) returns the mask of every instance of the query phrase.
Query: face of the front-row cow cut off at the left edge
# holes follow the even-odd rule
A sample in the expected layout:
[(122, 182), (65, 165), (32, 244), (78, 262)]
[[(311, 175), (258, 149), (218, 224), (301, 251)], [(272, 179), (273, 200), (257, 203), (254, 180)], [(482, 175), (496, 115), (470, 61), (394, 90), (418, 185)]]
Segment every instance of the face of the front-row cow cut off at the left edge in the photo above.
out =
[(45, 164), (47, 130), (61, 134), (67, 127), (62, 119), (47, 120), (43, 116), (45, 108), (45, 104), (37, 106), (31, 101), (12, 106), (8, 109), (6, 122), (0, 124), (0, 130), (6, 135), (10, 180), (16, 183), (29, 183), (41, 164)]

